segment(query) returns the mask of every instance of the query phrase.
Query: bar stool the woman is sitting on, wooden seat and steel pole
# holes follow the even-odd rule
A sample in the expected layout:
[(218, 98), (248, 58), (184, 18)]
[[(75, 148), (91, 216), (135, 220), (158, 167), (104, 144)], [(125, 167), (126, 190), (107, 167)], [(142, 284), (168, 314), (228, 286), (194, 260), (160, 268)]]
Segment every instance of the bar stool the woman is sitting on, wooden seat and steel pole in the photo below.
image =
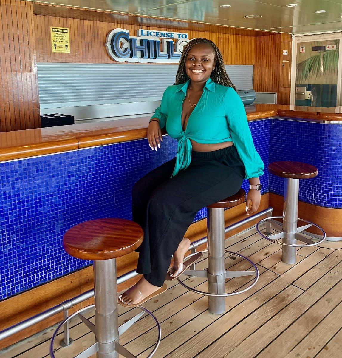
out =
[[(242, 292), (249, 290), (256, 284), (259, 278), (259, 271), (256, 265), (250, 261), (247, 257), (238, 253), (225, 250), (225, 223), (224, 223), (224, 209), (233, 208), (246, 201), (246, 192), (242, 188), (238, 193), (232, 195), (229, 198), (220, 200), (207, 207), (207, 235), (208, 235), (208, 268), (207, 270), (185, 270), (184, 274), (188, 276), (207, 277), (208, 279), (208, 292), (196, 290), (179, 278), (177, 280), (182, 286), (186, 287), (190, 291), (196, 292), (208, 297), (209, 311), (214, 314), (221, 314), (225, 311), (225, 297), (238, 295)], [(202, 251), (206, 252), (206, 251)], [(253, 266), (254, 271), (226, 271), (225, 270), (225, 253), (236, 255), (248, 261)], [(184, 258), (191, 257), (196, 253)], [(255, 278), (251, 285), (243, 290), (226, 293), (225, 281), (233, 277), (255, 275)]]

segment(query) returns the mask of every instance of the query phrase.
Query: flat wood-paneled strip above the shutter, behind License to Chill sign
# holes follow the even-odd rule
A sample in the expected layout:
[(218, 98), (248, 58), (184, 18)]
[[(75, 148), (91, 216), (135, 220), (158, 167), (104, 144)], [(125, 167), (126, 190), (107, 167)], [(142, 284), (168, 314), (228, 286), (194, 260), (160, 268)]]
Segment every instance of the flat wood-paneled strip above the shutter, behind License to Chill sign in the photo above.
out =
[[(121, 64), (113, 61), (107, 54), (104, 44), (108, 33), (115, 28), (124, 28), (129, 31), (130, 35), (136, 36), (137, 30), (140, 28), (156, 29), (156, 26), (125, 25), (118, 22), (108, 23), (44, 15), (34, 15), (34, 24), (37, 62)], [(69, 28), (70, 53), (53, 53), (51, 51), (50, 26)], [(170, 31), (170, 28), (158, 27), (158, 30)], [(184, 32), (183, 29), (178, 31)], [(206, 32), (205, 30), (186, 30), (186, 32), (190, 39), (205, 37), (214, 41), (223, 54), (225, 64), (254, 64), (255, 37)], [(125, 63), (125, 65), (127, 64), (129, 65), (129, 63)]]

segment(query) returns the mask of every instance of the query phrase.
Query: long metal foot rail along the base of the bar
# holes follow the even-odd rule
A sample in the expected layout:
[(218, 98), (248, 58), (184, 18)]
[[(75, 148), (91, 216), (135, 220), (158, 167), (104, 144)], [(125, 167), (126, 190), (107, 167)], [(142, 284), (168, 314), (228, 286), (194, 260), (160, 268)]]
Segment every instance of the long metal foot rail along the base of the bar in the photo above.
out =
[[(259, 217), (265, 215), (265, 214), (270, 214), (273, 212), (273, 208), (269, 207), (263, 211), (260, 211), (257, 214), (251, 215), (246, 219), (240, 220), (238, 222), (236, 222), (235, 224), (232, 224), (228, 227), (225, 228), (224, 232), (228, 233), (244, 224), (247, 224), (255, 219), (258, 219)], [(191, 243), (189, 250), (194, 250), (196, 249), (196, 247), (199, 247), (200, 245), (206, 243), (208, 241), (207, 236), (204, 236), (203, 238), (194, 241)], [(132, 277), (137, 276), (137, 272), (136, 270), (132, 270), (130, 272), (127, 272), (127, 274), (124, 274), (122, 276), (119, 276), (117, 278), (117, 284), (121, 284), (122, 282), (125, 282), (129, 279), (131, 279)], [(62, 303), (60, 303), (57, 306), (54, 306), (53, 308), (50, 308), (46, 311), (43, 311), (41, 313), (38, 313), (35, 316), (32, 316), (24, 321), (21, 321), (19, 323), (14, 324), (13, 326), (10, 326), (9, 328), (5, 328), (4, 330), (0, 331), (0, 340), (7, 338), (9, 336), (11, 336), (12, 334), (18, 333), (21, 330), (28, 328), (36, 323), (39, 323), (41, 321), (43, 321), (44, 319), (50, 318), (52, 316), (54, 316), (55, 314), (61, 313), (63, 312), (65, 309), (69, 309), (74, 305), (77, 305), (85, 300), (88, 300), (89, 298), (94, 297), (94, 290), (89, 290), (86, 291), (78, 296), (75, 296), (73, 299), (71, 300), (66, 300), (63, 301)]]

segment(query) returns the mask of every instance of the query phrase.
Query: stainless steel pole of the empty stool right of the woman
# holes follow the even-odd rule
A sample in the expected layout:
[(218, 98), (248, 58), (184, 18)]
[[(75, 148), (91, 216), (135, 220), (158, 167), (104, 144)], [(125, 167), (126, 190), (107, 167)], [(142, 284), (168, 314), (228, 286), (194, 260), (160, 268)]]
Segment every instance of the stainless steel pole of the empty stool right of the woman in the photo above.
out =
[[(299, 179), (285, 178), (283, 209), (283, 243), (295, 245), (298, 220)], [(288, 264), (296, 262), (296, 247), (284, 245), (282, 261)]]

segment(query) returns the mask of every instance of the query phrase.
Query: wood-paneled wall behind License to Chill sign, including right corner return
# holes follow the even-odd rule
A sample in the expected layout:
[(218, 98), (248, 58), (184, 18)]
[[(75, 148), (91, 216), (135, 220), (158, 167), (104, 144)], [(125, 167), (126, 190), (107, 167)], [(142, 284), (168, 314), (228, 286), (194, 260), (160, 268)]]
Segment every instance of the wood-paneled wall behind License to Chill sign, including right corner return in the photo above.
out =
[[(54, 16), (34, 15), (36, 28), (36, 49), (38, 62), (83, 62), (114, 63), (107, 54), (104, 43), (107, 34), (115, 28), (125, 28), (135, 36), (137, 29), (156, 29), (156, 26), (124, 25), (119, 22), (90, 21)], [(70, 54), (52, 53), (50, 50), (50, 26), (68, 27), (70, 29)], [(170, 31), (170, 28), (159, 28)], [(228, 29), (228, 28), (227, 28)], [(189, 34), (189, 38), (205, 37), (216, 43), (221, 50), (225, 64), (254, 65), (254, 89), (257, 92), (277, 92), (279, 104), (289, 104), (290, 96), (290, 61), (291, 35), (269, 34), (259, 36), (238, 35), (221, 32), (208, 32), (203, 29), (173, 31)], [(251, 30), (252, 32), (252, 30)], [(260, 32), (259, 32), (260, 34)], [(288, 55), (282, 55), (287, 49)], [(284, 66), (283, 66), (284, 64)], [(143, 65), (142, 65), (143, 66)], [(288, 82), (287, 82), (288, 80)]]

